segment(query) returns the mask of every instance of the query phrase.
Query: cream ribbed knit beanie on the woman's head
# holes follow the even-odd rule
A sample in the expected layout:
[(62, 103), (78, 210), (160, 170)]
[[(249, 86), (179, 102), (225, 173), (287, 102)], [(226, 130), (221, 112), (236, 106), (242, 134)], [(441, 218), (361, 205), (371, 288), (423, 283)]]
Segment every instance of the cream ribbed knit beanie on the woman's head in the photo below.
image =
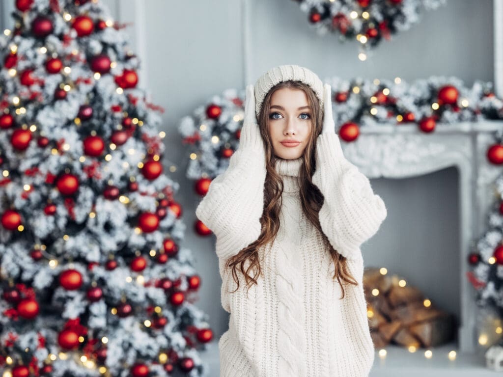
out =
[(255, 83), (255, 113), (259, 118), (262, 103), (271, 88), (282, 81), (302, 81), (309, 85), (319, 100), (321, 111), (323, 111), (323, 82), (313, 71), (294, 64), (280, 65), (271, 68)]

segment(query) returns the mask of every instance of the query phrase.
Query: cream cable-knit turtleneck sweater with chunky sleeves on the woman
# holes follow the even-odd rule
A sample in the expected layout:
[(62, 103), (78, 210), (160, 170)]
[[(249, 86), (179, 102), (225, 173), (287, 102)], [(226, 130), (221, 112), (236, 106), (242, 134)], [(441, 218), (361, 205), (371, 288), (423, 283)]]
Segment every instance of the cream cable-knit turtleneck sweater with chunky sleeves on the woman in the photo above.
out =
[[(229, 329), (218, 347), (221, 377), (366, 377), (374, 361), (363, 292), (360, 245), (386, 218), (382, 199), (370, 181), (344, 158), (335, 133), (318, 136), (312, 179), (324, 196), (319, 212), (323, 232), (348, 258), (359, 286), (332, 280), (334, 264), (321, 235), (301, 209), (298, 175), (302, 157), (279, 160), (283, 178), (280, 230), (272, 245), (259, 250), (263, 276), (246, 295), (229, 271), (227, 258), (258, 239), (266, 177), (262, 140), (238, 148), (227, 170), (210, 184), (196, 209), (216, 235), (222, 277), (221, 302), (230, 313)], [(259, 162), (257, 162), (259, 161)], [(244, 268), (248, 266), (245, 264)]]

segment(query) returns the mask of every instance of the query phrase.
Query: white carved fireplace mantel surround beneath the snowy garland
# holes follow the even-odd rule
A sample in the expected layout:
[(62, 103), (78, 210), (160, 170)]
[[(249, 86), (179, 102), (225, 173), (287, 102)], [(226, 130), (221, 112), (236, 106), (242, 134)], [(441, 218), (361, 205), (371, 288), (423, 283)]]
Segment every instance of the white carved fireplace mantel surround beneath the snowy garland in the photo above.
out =
[(486, 215), (493, 204), (495, 178), (501, 166), (490, 163), (487, 148), (494, 132), (503, 130), (502, 121), (440, 124), (431, 133), (417, 125), (364, 127), (355, 142), (341, 141), (344, 155), (369, 178), (405, 178), (427, 174), (449, 166), (459, 171), (461, 271), (458, 339), (459, 351), (476, 351), (475, 291), (466, 277), (471, 245), (486, 227)]

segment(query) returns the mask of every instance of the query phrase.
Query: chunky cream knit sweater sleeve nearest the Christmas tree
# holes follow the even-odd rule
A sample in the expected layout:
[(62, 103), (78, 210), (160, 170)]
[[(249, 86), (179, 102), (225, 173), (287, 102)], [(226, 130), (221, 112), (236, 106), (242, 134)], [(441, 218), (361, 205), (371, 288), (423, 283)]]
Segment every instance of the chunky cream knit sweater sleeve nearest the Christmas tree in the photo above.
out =
[(266, 171), (261, 148), (238, 148), (199, 203), (196, 216), (215, 234), (219, 258), (226, 260), (259, 238)]

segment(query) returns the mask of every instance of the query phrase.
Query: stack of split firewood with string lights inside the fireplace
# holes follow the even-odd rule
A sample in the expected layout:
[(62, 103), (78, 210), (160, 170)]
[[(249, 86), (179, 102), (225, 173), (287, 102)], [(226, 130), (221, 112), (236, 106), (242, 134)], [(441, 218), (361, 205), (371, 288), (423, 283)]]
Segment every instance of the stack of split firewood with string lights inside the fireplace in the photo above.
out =
[(451, 341), (457, 328), (454, 316), (435, 308), (420, 290), (403, 282), (379, 268), (365, 269), (363, 287), (374, 346), (429, 348)]

